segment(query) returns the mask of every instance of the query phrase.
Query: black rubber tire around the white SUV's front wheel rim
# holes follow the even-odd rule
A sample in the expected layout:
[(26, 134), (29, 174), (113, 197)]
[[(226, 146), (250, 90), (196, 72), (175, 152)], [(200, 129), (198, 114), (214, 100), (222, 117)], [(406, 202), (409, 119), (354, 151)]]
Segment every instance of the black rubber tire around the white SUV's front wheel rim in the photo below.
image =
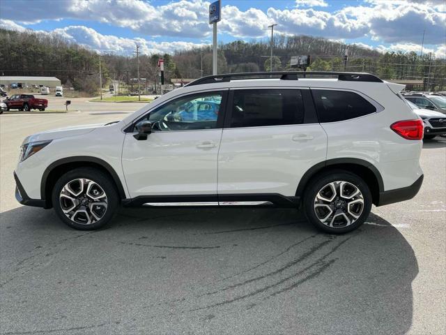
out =
[[(63, 188), (68, 183), (70, 183), (70, 181), (76, 179), (89, 179), (90, 181), (93, 181), (93, 183), (100, 186), (100, 188), (102, 188), (100, 191), (103, 191), (105, 193), (106, 198), (105, 200), (102, 199), (102, 201), (106, 201), (107, 206), (105, 211), (100, 215), (99, 220), (96, 221), (95, 218), (92, 217), (91, 207), (87, 209), (86, 207), (88, 206), (82, 206), (80, 204), (78, 205), (80, 207), (76, 207), (70, 213), (77, 211), (77, 209), (86, 209), (87, 213), (84, 213), (82, 216), (84, 216), (88, 220), (87, 214), (90, 213), (89, 217), (91, 218), (91, 223), (86, 224), (76, 222), (76, 218), (82, 218), (80, 214), (77, 216), (75, 214), (72, 214), (71, 218), (75, 218), (74, 220), (72, 220), (68, 218), (68, 216), (63, 212), (62, 200), (60, 200), (59, 197), (61, 196)], [(86, 190), (84, 190), (84, 192), (85, 191)], [(64, 192), (66, 192), (66, 189), (64, 190)], [(73, 195), (71, 196), (75, 198)], [(90, 200), (88, 197), (82, 194), (79, 195), (79, 200), (76, 200), (80, 202), (82, 200), (82, 197), (84, 199)], [(107, 174), (104, 174), (103, 172), (101, 172), (100, 170), (96, 170), (95, 168), (77, 168), (75, 170), (67, 172), (66, 174), (63, 174), (62, 177), (60, 177), (59, 180), (56, 181), (56, 184), (54, 185), (54, 188), (52, 190), (52, 204), (59, 218), (61, 218), (61, 220), (69, 225), (71, 228), (75, 228), (77, 230), (96, 230), (98, 228), (104, 227), (105, 225), (107, 225), (107, 223), (109, 223), (109, 221), (112, 220), (119, 204), (119, 198), (114, 181), (112, 181), (112, 179), (108, 177)], [(70, 213), (68, 215), (70, 215)]]

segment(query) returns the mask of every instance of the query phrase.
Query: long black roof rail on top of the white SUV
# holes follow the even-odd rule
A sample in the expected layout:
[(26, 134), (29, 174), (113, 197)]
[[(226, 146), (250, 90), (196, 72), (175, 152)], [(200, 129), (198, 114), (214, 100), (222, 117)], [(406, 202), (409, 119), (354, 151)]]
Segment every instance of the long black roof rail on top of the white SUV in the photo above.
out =
[(299, 80), (299, 76), (307, 77), (308, 75), (330, 75), (337, 76), (337, 80), (350, 82), (383, 82), (376, 75), (370, 73), (353, 73), (353, 72), (328, 72), (328, 71), (276, 71), (276, 72), (247, 72), (247, 73), (226, 73), (222, 75), (208, 75), (201, 77), (185, 86), (194, 86), (201, 84), (213, 84), (215, 82), (230, 82), (231, 80), (243, 79), (268, 79), (276, 78), (281, 80)]

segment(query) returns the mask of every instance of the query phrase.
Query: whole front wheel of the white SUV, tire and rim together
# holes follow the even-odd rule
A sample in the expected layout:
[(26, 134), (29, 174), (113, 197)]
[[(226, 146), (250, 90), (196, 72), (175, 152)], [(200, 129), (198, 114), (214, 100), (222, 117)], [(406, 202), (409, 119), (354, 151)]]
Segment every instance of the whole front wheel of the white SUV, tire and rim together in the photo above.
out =
[(79, 230), (95, 230), (109, 223), (118, 201), (113, 181), (94, 168), (78, 168), (63, 174), (52, 191), (56, 214)]

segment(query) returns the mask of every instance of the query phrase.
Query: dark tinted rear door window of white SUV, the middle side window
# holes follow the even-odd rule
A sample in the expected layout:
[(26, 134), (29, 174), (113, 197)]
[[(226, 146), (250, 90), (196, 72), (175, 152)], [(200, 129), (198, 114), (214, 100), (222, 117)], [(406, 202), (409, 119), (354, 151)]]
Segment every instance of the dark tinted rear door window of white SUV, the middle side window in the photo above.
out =
[(302, 124), (303, 119), (298, 89), (246, 89), (233, 93), (232, 128)]

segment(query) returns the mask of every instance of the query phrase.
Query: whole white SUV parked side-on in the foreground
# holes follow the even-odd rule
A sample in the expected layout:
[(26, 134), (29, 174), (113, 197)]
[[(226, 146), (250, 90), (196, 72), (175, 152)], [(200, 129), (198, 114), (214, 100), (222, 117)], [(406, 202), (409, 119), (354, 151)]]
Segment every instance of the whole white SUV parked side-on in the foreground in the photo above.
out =
[(301, 205), (348, 232), (422, 184), (423, 124), (401, 89), (367, 73), (203, 77), (122, 121), (26, 137), (16, 197), (82, 230), (119, 204)]

